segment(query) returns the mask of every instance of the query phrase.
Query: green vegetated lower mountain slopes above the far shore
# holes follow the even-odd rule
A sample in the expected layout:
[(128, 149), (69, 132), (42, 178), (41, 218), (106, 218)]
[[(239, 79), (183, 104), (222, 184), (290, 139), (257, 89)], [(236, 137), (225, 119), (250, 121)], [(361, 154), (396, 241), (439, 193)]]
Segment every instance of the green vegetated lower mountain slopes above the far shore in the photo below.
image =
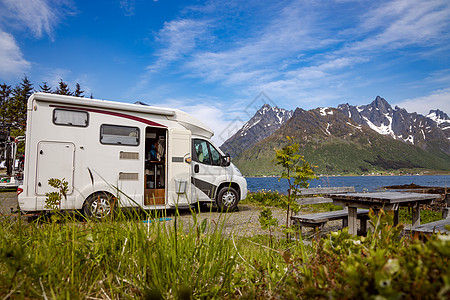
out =
[[(301, 143), (299, 154), (315, 166), (316, 174), (450, 171), (450, 157), (439, 149), (425, 151), (390, 137), (375, 133), (367, 135), (348, 139), (308, 139)], [(233, 163), (245, 176), (280, 174), (281, 168), (272, 162), (272, 153), (273, 148), (281, 148), (285, 144), (281, 137), (270, 137), (243, 152)]]

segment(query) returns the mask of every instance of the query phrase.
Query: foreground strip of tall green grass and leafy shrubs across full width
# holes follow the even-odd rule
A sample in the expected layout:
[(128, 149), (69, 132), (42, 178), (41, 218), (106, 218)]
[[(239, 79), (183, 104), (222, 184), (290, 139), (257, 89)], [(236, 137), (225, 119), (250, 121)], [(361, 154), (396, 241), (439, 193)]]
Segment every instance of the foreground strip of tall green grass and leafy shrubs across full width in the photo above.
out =
[[(400, 238), (371, 215), (367, 237), (347, 230), (304, 246), (235, 238), (218, 224), (158, 222), (118, 213), (0, 220), (3, 298), (442, 298), (450, 296), (450, 239)], [(177, 214), (171, 218), (177, 218)], [(240, 228), (242, 230), (242, 228)]]

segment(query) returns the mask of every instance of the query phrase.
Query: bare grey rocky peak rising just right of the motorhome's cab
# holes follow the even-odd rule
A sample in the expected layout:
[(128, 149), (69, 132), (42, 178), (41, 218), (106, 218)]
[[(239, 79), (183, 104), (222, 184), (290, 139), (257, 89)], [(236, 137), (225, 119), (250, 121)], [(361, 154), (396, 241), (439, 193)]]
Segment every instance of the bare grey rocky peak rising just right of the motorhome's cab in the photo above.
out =
[(242, 151), (274, 133), (292, 117), (293, 111), (264, 104), (247, 123), (220, 147), (236, 157)]

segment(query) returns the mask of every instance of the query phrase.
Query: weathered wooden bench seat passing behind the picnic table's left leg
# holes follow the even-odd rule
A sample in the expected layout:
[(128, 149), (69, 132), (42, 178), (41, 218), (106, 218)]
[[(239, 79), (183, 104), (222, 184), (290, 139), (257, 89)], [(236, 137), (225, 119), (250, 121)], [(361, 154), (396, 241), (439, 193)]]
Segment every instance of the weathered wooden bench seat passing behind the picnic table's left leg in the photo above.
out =
[[(358, 209), (357, 218), (361, 222), (361, 231), (367, 231), (367, 220), (369, 219), (368, 209)], [(320, 231), (323, 226), (329, 221), (342, 220), (342, 227), (348, 226), (348, 211), (347, 209), (328, 211), (323, 213), (315, 213), (308, 215), (296, 215), (291, 217), (292, 225), (298, 226), (299, 230), (302, 227), (315, 227)]]

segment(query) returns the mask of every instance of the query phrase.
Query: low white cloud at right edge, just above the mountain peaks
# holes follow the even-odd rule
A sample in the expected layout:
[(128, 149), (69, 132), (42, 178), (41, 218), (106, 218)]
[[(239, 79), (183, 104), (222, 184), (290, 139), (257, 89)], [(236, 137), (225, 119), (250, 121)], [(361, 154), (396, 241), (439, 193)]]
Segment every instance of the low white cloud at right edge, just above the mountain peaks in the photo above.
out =
[(432, 109), (440, 109), (450, 114), (450, 88), (435, 91), (427, 96), (405, 99), (394, 105), (422, 115), (427, 115)]

